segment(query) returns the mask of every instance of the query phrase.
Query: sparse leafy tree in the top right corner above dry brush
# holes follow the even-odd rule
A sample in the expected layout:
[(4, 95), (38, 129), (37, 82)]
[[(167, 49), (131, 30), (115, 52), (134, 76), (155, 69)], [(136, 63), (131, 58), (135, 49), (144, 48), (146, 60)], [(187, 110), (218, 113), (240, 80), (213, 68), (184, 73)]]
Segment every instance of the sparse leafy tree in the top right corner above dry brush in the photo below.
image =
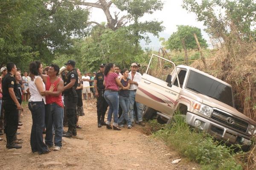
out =
[[(256, 21), (254, 0), (183, 0), (183, 8), (197, 15), (207, 26), (206, 31), (215, 39), (224, 41), (253, 40)], [(233, 40), (232, 40), (233, 39)], [(228, 45), (230, 46), (230, 45)], [(231, 51), (230, 51), (231, 52)]]

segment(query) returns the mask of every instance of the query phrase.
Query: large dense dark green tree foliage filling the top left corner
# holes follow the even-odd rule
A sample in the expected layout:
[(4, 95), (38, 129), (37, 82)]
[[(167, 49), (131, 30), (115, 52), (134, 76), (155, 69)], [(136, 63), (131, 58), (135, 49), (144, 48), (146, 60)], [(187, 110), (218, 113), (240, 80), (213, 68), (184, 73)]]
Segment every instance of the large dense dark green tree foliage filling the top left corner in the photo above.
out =
[(15, 62), (22, 70), (34, 60), (49, 64), (56, 52), (72, 46), (72, 37), (86, 35), (87, 16), (87, 10), (68, 0), (5, 0), (0, 6), (0, 63)]

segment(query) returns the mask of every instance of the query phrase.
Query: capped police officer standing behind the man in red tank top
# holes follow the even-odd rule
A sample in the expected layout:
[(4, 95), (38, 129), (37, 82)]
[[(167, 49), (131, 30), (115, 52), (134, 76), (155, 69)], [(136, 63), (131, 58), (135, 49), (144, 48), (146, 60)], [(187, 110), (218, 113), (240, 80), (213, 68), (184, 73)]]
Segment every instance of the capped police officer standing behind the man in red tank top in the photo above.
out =
[(71, 138), (76, 136), (76, 105), (78, 96), (76, 94), (76, 87), (78, 85), (78, 74), (75, 70), (75, 61), (68, 60), (65, 63), (67, 74), (64, 77), (64, 105), (67, 112), (68, 130), (63, 136)]

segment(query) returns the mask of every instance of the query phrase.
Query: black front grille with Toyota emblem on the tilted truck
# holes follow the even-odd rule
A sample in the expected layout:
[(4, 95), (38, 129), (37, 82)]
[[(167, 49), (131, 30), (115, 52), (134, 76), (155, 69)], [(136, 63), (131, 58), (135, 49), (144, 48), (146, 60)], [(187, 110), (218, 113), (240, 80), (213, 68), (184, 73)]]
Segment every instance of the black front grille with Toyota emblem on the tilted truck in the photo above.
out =
[[(229, 119), (227, 119), (229, 118)], [(244, 120), (238, 119), (234, 116), (230, 116), (229, 114), (223, 113), (218, 110), (213, 110), (211, 119), (221, 122), (224, 124), (226, 127), (231, 127), (232, 129), (239, 130), (241, 132), (246, 133), (248, 123), (245, 122)], [(230, 121), (228, 121), (230, 120)], [(233, 121), (232, 121), (233, 120)]]

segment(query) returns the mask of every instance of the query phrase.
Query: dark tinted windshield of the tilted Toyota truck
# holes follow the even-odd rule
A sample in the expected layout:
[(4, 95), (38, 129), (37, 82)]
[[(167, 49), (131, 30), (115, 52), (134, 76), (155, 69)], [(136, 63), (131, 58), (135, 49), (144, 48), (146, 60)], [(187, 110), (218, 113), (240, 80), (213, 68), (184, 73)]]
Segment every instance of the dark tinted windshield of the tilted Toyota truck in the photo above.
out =
[(214, 79), (190, 71), (186, 88), (204, 94), (233, 107), (232, 89)]

